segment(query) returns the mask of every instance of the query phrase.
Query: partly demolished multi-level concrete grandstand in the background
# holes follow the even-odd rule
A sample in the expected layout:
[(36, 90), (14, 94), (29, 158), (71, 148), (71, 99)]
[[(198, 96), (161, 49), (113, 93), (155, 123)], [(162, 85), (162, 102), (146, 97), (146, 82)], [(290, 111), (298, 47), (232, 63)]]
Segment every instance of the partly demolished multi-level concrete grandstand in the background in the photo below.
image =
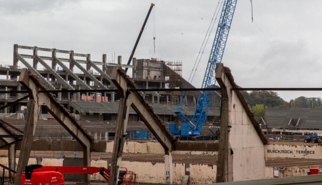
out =
[[(101, 138), (113, 137), (115, 121), (117, 117), (119, 95), (116, 92), (86, 92), (87, 90), (115, 89), (110, 80), (113, 67), (121, 66), (132, 69), (132, 79), (137, 88), (153, 89), (155, 91), (144, 92), (143, 96), (149, 102), (159, 117), (168, 123), (178, 123), (179, 119), (173, 112), (182, 96), (180, 91), (159, 91), (164, 88), (195, 88), (182, 77), (181, 61), (157, 61), (150, 59), (133, 58), (132, 65), (123, 65), (121, 56), (117, 62), (107, 61), (103, 54), (102, 61), (92, 61), (90, 54), (80, 54), (72, 50), (59, 50), (41, 47), (29, 47), (14, 45), (13, 64), (0, 67), (0, 89), (5, 91), (24, 90), (17, 81), (21, 68), (27, 68), (36, 74), (40, 81), (50, 90), (84, 90), (84, 92), (54, 93), (62, 105), (75, 113), (85, 125), (110, 123), (107, 130), (91, 129), (89, 131)], [(188, 84), (188, 85), (187, 85)], [(27, 93), (0, 94), (0, 105), (4, 106), (22, 98)], [(190, 91), (186, 96), (185, 106), (182, 111), (191, 118), (196, 107), (199, 91)], [(7, 116), (23, 118), (28, 100), (2, 110)], [(14, 113), (14, 114), (12, 114)], [(129, 117), (129, 129), (147, 130), (142, 124), (141, 118), (131, 108)], [(215, 94), (212, 99), (212, 107), (209, 110), (207, 122), (203, 134), (213, 134), (208, 126), (220, 119), (220, 96)], [(40, 119), (51, 119), (52, 115), (41, 109)], [(21, 120), (22, 121), (22, 120)], [(50, 120), (49, 120), (50, 121)], [(91, 123), (89, 123), (90, 121)], [(209, 124), (210, 123), (210, 124)], [(17, 122), (19, 124), (19, 121)], [(114, 125), (114, 126), (112, 126)], [(142, 126), (140, 126), (142, 125)], [(131, 128), (133, 126), (133, 128)], [(66, 133), (67, 134), (67, 133)], [(64, 137), (64, 134), (55, 134), (54, 137)], [(48, 137), (48, 134), (45, 136)], [(53, 134), (52, 136), (53, 137)], [(153, 137), (149, 133), (149, 137)]]

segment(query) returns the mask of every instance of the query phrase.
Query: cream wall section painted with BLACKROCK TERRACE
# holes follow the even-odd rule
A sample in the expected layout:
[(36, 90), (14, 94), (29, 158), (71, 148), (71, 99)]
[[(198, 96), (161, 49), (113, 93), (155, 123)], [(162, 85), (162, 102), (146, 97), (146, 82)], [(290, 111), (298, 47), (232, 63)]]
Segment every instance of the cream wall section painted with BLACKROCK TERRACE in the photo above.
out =
[(321, 159), (322, 146), (266, 145), (265, 157)]

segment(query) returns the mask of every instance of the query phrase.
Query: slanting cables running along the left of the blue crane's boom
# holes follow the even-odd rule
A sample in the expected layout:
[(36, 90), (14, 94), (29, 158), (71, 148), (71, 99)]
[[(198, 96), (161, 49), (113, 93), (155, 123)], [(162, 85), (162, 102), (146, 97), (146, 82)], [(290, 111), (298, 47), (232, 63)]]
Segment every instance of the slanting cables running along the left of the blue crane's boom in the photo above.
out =
[[(190, 88), (190, 86), (191, 86), (192, 80), (193, 80), (193, 78), (194, 78), (194, 76), (195, 76), (195, 74), (196, 74), (196, 72), (197, 72), (197, 69), (198, 69), (198, 67), (199, 67), (199, 64), (200, 64), (201, 58), (202, 58), (202, 56), (203, 56), (203, 54), (204, 54), (204, 51), (205, 51), (205, 48), (206, 48), (206, 46), (207, 46), (208, 40), (209, 40), (210, 35), (211, 35), (211, 33), (212, 33), (212, 31), (213, 31), (213, 28), (214, 28), (214, 26), (215, 26), (215, 22), (216, 22), (216, 20), (217, 20), (217, 18), (218, 18), (219, 10), (221, 9), (221, 6), (222, 6), (222, 4), (223, 4), (223, 1), (224, 1), (224, 0), (221, 0), (221, 3), (220, 3), (220, 0), (218, 0), (218, 3), (217, 3), (217, 6), (216, 6), (216, 9), (215, 9), (215, 12), (214, 12), (213, 18), (212, 18), (212, 20), (211, 20), (211, 22), (210, 22), (210, 25), (209, 25), (209, 27), (208, 27), (208, 30), (207, 30), (206, 36), (205, 36), (205, 38), (204, 38), (204, 40), (203, 40), (203, 43), (202, 43), (202, 45), (201, 45), (201, 47), (200, 47), (200, 50), (199, 50), (199, 53), (198, 53), (197, 59), (196, 59), (195, 64), (194, 64), (194, 66), (193, 66), (193, 68), (192, 68), (191, 74), (190, 74), (190, 76), (189, 76), (189, 78), (188, 78), (188, 81), (187, 81), (187, 83), (186, 83), (186, 87), (185, 87), (185, 88)], [(215, 18), (215, 19), (214, 19), (214, 18)], [(208, 37), (207, 37), (207, 36), (208, 36)], [(197, 66), (196, 66), (196, 65), (197, 65)], [(178, 106), (177, 110), (181, 110), (181, 108), (182, 108), (182, 106), (183, 106), (183, 104), (184, 104), (184, 101), (185, 101), (185, 97), (187, 96), (187, 94), (188, 94), (188, 91), (183, 92), (183, 95), (182, 95), (182, 97), (181, 97), (180, 104), (179, 104), (179, 106)]]

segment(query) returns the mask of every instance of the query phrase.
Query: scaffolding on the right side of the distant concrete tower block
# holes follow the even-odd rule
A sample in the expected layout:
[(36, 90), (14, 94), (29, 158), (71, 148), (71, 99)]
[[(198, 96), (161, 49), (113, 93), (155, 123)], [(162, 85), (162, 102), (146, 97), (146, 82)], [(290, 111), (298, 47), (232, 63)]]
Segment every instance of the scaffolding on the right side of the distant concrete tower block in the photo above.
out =
[(182, 61), (167, 61), (166, 76), (169, 76), (170, 88), (181, 86)]

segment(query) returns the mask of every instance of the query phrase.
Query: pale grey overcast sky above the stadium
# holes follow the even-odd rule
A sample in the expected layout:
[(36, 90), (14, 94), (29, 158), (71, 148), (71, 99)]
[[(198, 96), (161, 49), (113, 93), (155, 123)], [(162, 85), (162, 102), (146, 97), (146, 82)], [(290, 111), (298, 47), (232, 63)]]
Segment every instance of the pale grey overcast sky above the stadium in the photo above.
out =
[[(13, 44), (90, 53), (93, 61), (129, 58), (151, 2), (156, 57), (182, 61), (188, 78), (218, 0), (1, 0), (0, 63), (12, 65)], [(242, 87), (322, 87), (322, 1), (237, 2), (222, 63)], [(134, 57), (154, 57), (153, 14)], [(215, 31), (213, 32), (215, 33)], [(193, 84), (200, 87), (214, 36)], [(19, 63), (21, 66), (22, 64)], [(130, 70), (129, 70), (130, 71)], [(289, 101), (322, 92), (277, 92)]]

